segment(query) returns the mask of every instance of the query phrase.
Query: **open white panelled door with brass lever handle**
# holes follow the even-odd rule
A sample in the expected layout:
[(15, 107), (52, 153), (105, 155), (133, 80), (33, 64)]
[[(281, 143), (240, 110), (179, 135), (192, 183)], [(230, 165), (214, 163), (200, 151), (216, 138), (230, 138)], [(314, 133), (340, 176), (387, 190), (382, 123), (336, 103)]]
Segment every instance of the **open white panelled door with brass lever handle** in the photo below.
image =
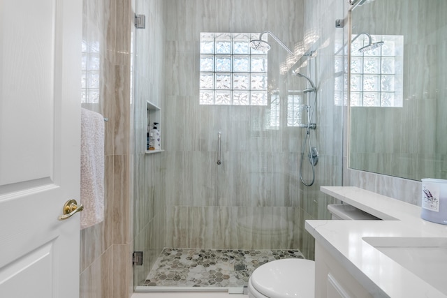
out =
[(82, 0), (0, 0), (0, 297), (79, 297)]

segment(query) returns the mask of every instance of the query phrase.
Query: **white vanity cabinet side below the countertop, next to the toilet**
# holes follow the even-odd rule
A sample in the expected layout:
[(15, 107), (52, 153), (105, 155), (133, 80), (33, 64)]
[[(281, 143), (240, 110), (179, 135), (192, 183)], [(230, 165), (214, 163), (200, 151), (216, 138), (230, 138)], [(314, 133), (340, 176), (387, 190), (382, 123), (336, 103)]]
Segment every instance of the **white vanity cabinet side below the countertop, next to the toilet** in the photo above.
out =
[(315, 243), (315, 297), (373, 297), (328, 251)]

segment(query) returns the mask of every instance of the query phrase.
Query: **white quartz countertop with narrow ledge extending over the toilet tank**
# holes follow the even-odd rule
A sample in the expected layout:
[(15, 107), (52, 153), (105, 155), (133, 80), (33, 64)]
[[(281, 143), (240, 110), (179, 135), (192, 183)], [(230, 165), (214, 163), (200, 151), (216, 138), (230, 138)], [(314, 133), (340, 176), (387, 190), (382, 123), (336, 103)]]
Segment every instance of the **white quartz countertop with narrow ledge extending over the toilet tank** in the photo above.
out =
[[(420, 218), (421, 208), (416, 205), (361, 188), (323, 186), (321, 191), (382, 219), (306, 221), (306, 230), (374, 297), (447, 297), (444, 289), (442, 292), (437, 290), (439, 287), (434, 288), (367, 241), (404, 238), (447, 239), (447, 225), (423, 220)], [(434, 270), (435, 267), (439, 270), (440, 267), (439, 264), (433, 264), (431, 258), (418, 266), (421, 272)], [(444, 271), (439, 274), (444, 276), (444, 288), (447, 289), (447, 263), (441, 267), (444, 267)]]

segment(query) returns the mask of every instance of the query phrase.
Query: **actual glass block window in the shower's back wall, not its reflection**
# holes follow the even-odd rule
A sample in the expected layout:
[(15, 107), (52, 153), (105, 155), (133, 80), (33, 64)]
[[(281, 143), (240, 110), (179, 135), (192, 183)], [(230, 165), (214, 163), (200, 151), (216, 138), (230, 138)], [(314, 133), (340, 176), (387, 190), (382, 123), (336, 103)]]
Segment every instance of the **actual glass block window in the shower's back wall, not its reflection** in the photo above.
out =
[(200, 33), (200, 105), (267, 105), (267, 53), (259, 33)]

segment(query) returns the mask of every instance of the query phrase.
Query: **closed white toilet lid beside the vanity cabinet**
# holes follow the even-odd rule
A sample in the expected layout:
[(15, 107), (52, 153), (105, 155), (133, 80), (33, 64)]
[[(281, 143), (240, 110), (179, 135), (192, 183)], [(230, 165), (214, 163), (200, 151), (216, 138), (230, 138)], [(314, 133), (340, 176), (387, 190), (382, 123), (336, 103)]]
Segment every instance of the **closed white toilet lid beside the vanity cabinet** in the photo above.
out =
[(271, 298), (314, 297), (315, 262), (282, 259), (268, 262), (251, 274), (251, 285)]

